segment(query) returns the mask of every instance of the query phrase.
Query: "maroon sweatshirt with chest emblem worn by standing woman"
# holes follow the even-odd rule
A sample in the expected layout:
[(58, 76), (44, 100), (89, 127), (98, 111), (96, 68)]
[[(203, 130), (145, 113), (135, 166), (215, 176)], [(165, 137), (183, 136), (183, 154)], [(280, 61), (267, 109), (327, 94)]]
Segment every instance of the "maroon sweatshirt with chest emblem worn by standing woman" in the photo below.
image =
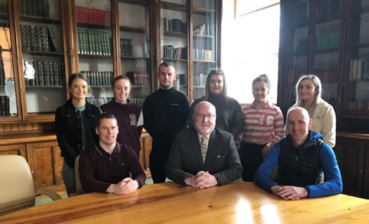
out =
[(137, 127), (138, 118), (140, 117), (141, 107), (132, 104), (128, 100), (128, 104), (119, 104), (112, 99), (108, 104), (100, 107), (101, 111), (112, 113), (118, 120), (119, 134), (117, 141), (127, 146), (131, 146), (139, 155), (141, 150), (140, 137), (142, 127)]

